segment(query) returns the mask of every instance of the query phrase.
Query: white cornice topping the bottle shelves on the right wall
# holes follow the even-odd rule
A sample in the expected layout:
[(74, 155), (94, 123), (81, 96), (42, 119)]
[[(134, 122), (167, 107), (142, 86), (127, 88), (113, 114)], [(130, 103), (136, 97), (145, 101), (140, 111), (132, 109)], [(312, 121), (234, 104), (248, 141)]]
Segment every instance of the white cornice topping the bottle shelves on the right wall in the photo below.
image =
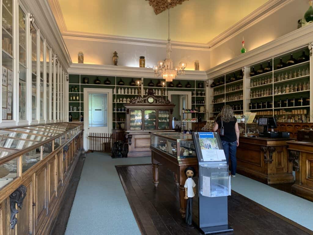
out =
[(278, 39), (266, 43), (254, 50), (241, 54), (231, 60), (217, 65), (206, 71), (208, 79), (239, 70), (242, 67), (249, 67), (261, 61), (282, 55), (286, 52), (301, 48), (313, 41), (313, 24), (296, 29)]

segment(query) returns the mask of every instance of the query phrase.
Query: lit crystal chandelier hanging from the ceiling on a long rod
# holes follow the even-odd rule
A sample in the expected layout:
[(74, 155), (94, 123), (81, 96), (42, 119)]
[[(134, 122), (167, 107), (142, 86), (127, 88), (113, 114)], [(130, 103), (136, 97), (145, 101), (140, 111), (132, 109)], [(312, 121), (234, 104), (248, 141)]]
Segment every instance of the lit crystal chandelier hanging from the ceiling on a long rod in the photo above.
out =
[(162, 76), (165, 81), (171, 82), (173, 79), (177, 78), (178, 74), (184, 75), (187, 63), (180, 62), (179, 67), (173, 67), (173, 60), (171, 58), (172, 44), (170, 39), (170, 2), (168, 2), (168, 39), (166, 44), (166, 60), (159, 60), (157, 65), (153, 66), (154, 75), (156, 77)]

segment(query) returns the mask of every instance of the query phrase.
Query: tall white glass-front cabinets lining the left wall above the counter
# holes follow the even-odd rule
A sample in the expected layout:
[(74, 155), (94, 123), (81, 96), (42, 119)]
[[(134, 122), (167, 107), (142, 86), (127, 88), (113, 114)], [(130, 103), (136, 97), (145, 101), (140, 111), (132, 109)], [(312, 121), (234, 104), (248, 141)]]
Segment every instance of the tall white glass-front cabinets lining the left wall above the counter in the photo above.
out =
[(0, 127), (63, 121), (66, 70), (49, 47), (39, 17), (18, 0), (0, 4)]

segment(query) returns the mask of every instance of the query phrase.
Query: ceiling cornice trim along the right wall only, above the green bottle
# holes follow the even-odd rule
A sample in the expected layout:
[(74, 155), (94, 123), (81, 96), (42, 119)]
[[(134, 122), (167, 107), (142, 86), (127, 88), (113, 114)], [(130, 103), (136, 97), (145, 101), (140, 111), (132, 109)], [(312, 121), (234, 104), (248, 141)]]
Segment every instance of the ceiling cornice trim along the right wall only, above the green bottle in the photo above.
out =
[(264, 18), (275, 13), (279, 9), (283, 8), (287, 4), (293, 2), (294, 0), (270, 0), (263, 4), (261, 7), (247, 15), (245, 18), (225, 30), (223, 33), (216, 36), (214, 39), (208, 42), (208, 47), (217, 47), (220, 44), (227, 42), (236, 35), (242, 33), (244, 30), (250, 28), (254, 24), (257, 24)]

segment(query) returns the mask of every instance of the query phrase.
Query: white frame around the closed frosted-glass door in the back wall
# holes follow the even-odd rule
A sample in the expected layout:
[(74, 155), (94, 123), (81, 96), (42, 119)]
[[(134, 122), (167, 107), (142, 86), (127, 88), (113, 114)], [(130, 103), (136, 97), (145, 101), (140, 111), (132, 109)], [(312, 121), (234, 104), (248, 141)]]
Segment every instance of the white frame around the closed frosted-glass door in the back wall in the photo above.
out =
[(88, 149), (88, 129), (89, 129), (89, 99), (88, 94), (103, 94), (108, 93), (108, 128), (109, 133), (112, 133), (112, 115), (113, 111), (113, 91), (108, 88), (84, 88), (84, 149)]

